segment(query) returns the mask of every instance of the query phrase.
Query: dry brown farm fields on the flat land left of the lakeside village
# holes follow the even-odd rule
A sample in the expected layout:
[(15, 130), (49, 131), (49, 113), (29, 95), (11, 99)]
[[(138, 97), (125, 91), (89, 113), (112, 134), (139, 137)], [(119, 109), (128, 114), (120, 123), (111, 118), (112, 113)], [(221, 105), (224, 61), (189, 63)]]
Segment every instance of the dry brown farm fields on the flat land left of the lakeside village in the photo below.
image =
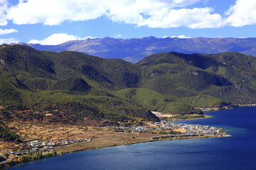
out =
[[(68, 145), (56, 149), (57, 152), (74, 152), (83, 149), (97, 149), (102, 147), (112, 147), (117, 145), (130, 145), (134, 143), (149, 142), (151, 137), (158, 134), (139, 134), (127, 132), (113, 132), (105, 127), (86, 127), (78, 125), (43, 125), (31, 123), (10, 123), (21, 135), (24, 143), (0, 141), (0, 153), (5, 150), (14, 151), (23, 149), (25, 143), (31, 140), (41, 140), (45, 142), (60, 142), (65, 139), (85, 139), (92, 138), (90, 142), (82, 142), (75, 145)], [(22, 146), (23, 145), (23, 146)], [(27, 145), (26, 145), (27, 146)]]

